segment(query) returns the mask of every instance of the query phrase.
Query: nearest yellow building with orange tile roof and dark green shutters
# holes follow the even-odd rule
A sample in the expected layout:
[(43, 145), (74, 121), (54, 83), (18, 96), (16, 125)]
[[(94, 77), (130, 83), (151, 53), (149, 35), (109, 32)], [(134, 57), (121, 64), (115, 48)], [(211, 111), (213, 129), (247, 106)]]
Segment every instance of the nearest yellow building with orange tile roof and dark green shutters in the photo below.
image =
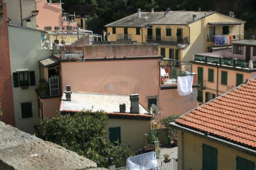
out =
[(255, 91), (254, 78), (170, 123), (179, 170), (255, 170)]

